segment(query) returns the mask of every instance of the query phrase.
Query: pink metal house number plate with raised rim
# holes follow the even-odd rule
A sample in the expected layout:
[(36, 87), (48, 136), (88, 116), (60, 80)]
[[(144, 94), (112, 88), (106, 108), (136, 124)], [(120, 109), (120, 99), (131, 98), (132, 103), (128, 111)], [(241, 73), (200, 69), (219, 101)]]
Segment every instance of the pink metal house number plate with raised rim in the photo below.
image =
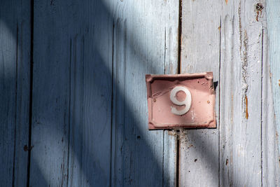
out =
[(216, 127), (213, 73), (146, 75), (148, 127)]

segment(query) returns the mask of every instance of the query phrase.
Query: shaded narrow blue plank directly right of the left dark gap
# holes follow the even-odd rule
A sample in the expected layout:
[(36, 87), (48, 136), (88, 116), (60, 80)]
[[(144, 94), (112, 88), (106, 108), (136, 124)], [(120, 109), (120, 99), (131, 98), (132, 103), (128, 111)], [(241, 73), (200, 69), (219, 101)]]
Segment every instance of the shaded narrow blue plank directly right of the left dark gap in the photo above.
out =
[(30, 186), (66, 186), (71, 20), (62, 3), (34, 1)]

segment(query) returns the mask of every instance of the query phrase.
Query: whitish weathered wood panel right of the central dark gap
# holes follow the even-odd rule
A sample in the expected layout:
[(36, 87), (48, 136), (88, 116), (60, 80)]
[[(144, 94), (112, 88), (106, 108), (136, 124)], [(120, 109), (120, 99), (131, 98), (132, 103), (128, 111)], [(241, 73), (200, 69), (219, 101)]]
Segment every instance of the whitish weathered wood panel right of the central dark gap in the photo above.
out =
[[(279, 186), (266, 17), (265, 9), (258, 10), (257, 4), (265, 7), (265, 1), (255, 0), (183, 1), (181, 71), (216, 72), (220, 124), (218, 130), (181, 134), (181, 186)], [(273, 19), (267, 18), (273, 23), (268, 32), (274, 34), (273, 53), (269, 52), (274, 58), (279, 49), (278, 7), (272, 8)], [(271, 63), (275, 73), (279, 63)], [(278, 79), (277, 84), (272, 81), (274, 89), (279, 89)]]

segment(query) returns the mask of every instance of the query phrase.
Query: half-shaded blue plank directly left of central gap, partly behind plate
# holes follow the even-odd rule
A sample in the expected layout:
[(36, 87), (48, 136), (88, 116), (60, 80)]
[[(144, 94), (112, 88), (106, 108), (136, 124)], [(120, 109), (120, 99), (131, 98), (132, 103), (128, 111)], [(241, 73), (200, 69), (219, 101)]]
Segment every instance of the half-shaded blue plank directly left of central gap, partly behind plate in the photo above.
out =
[(119, 1), (114, 15), (112, 186), (174, 186), (175, 141), (148, 130), (145, 74), (175, 74), (178, 1)]

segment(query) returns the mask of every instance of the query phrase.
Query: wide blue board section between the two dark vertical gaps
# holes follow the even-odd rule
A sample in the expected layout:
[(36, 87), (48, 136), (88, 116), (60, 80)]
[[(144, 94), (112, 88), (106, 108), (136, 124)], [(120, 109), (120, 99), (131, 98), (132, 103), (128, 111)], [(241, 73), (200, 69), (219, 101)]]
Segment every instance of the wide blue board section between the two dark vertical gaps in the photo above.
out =
[(178, 11), (34, 2), (31, 186), (175, 185), (176, 139), (148, 131), (144, 75), (176, 73)]

